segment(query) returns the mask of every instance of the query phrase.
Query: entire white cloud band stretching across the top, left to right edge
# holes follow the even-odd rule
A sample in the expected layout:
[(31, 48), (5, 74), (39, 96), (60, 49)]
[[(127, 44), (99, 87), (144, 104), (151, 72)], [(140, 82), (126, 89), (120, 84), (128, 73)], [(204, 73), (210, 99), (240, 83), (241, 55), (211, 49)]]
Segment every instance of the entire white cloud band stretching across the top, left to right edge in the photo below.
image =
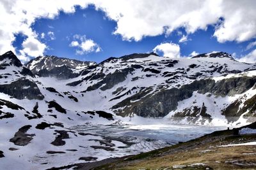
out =
[[(88, 4), (94, 4), (97, 10), (104, 11), (106, 17), (114, 20), (116, 28), (113, 34), (120, 34), (128, 41), (140, 41), (145, 36), (168, 35), (180, 27), (184, 28), (186, 34), (193, 34), (198, 29), (207, 29), (208, 25), (214, 25), (213, 36), (221, 43), (242, 42), (256, 37), (254, 0), (2, 0), (0, 53), (15, 50), (12, 42), (15, 41), (14, 35), (19, 32), (28, 38), (38, 39), (40, 36), (31, 29), (31, 24), (37, 18), (54, 18), (60, 11), (74, 13), (74, 6), (86, 8)], [(29, 55), (29, 50), (26, 51)]]

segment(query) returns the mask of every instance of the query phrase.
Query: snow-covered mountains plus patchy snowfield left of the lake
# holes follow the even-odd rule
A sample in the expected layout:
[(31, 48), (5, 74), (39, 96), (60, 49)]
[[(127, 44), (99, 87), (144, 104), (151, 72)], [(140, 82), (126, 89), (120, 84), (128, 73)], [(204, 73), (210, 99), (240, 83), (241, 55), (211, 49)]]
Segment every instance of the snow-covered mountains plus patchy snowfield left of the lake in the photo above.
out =
[[(148, 150), (166, 145), (132, 138), (121, 142), (115, 136), (107, 138), (104, 131), (99, 135), (99, 127), (92, 125), (249, 124), (256, 118), (255, 83), (255, 64), (237, 62), (223, 52), (191, 59), (134, 53), (99, 64), (45, 56), (25, 66), (7, 52), (0, 56), (0, 155), (17, 162), (24, 155), (29, 164), (24, 169), (33, 162), (49, 168), (60, 159), (81, 162), (77, 157), (87, 153), (103, 159), (122, 156), (131, 148), (140, 152), (135, 146), (141, 142)], [(81, 124), (90, 131), (84, 132)], [(58, 152), (62, 156), (49, 159)]]

